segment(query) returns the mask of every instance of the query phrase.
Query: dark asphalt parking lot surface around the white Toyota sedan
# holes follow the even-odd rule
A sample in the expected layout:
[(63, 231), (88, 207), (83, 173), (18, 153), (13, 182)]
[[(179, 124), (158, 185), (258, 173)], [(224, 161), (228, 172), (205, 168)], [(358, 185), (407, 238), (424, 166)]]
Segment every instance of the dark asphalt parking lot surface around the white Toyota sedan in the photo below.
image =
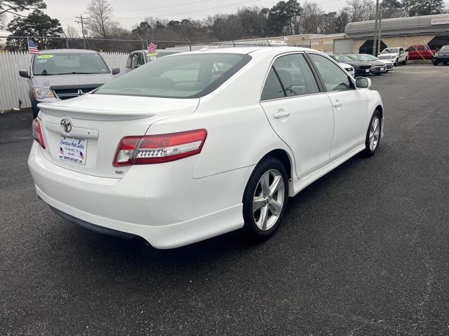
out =
[(449, 66), (375, 76), (385, 137), (290, 200), (279, 232), (159, 251), (59, 218), (0, 115), (0, 335), (449, 335)]

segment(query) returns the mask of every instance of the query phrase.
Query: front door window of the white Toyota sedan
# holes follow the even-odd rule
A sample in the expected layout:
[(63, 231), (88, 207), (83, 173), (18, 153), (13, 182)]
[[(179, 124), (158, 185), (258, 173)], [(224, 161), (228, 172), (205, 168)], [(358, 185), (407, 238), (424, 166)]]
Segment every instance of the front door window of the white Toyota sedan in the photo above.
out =
[(316, 69), (323, 78), (326, 91), (340, 91), (351, 89), (351, 82), (340, 66), (321, 55), (309, 54)]

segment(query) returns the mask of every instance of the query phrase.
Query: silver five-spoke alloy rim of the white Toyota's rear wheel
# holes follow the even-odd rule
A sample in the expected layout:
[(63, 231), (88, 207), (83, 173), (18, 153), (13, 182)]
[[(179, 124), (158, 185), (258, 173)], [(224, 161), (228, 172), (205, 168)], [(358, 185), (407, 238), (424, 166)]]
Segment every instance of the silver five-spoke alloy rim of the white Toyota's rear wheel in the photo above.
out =
[(285, 193), (283, 177), (278, 170), (270, 169), (262, 175), (253, 196), (253, 216), (257, 228), (266, 231), (276, 224), (281, 216)]

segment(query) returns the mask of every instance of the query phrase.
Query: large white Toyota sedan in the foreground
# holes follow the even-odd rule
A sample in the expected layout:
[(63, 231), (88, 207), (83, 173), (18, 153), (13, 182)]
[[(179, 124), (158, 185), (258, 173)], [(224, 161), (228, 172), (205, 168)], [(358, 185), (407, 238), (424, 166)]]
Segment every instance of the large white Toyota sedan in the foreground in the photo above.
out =
[(288, 197), (382, 137), (369, 78), (304, 48), (186, 52), (91, 94), (40, 104), (29, 170), (56, 214), (175, 248), (244, 228), (264, 239)]

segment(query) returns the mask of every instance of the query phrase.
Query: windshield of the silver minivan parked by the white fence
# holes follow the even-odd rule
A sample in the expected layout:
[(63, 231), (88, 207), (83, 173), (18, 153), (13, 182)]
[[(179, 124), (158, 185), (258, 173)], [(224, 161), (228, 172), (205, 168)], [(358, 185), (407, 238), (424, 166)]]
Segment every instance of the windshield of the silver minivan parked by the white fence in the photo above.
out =
[(65, 75), (71, 73), (109, 73), (98, 53), (64, 52), (41, 54), (33, 58), (34, 76)]

